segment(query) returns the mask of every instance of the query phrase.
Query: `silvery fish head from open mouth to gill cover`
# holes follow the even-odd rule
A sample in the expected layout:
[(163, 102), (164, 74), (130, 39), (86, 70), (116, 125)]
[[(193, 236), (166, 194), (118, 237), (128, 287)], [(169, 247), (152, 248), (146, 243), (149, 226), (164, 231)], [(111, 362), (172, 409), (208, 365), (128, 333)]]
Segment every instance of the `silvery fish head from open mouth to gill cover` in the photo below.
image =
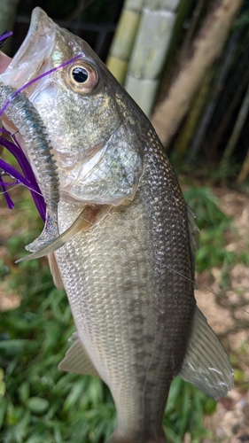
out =
[(61, 198), (118, 205), (134, 197), (143, 174), (144, 114), (88, 43), (37, 7), (0, 81), (16, 89), (28, 83), (24, 92), (51, 139)]

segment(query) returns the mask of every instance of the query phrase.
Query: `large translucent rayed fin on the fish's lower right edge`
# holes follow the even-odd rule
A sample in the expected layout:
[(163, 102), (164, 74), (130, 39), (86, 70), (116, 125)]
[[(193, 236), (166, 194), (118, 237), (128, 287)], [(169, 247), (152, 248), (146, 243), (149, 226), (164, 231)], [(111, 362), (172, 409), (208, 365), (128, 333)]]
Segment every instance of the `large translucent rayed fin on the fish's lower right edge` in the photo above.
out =
[(228, 355), (198, 307), (179, 376), (214, 399), (226, 395), (234, 384)]

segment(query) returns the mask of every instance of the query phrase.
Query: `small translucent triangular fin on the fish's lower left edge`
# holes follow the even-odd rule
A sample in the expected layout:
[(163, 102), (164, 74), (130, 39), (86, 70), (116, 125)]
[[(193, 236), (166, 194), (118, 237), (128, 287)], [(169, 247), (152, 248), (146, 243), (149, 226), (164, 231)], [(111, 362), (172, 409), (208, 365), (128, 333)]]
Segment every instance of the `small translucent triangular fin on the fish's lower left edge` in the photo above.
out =
[(73, 339), (74, 343), (69, 347), (64, 359), (60, 361), (58, 369), (99, 378), (97, 369), (90, 361), (78, 334), (74, 334)]

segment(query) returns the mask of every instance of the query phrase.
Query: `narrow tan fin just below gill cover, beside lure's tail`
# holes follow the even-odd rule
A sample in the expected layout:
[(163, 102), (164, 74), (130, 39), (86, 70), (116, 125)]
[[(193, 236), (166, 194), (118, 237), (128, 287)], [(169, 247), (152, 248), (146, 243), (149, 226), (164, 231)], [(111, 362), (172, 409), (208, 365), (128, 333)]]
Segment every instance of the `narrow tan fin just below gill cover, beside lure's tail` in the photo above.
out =
[(20, 263), (21, 261), (40, 259), (44, 255), (54, 253), (59, 248), (61, 248), (61, 246), (65, 245), (66, 242), (70, 240), (70, 238), (77, 234), (77, 232), (79, 232), (80, 230), (89, 229), (91, 228), (91, 226), (101, 221), (110, 211), (110, 207), (110, 205), (86, 206), (83, 209), (82, 213), (70, 226), (70, 228), (66, 229), (62, 234), (60, 234), (60, 236), (53, 240), (50, 245), (46, 245), (35, 253), (31, 253), (30, 255), (27, 255), (27, 257), (23, 257), (22, 259), (17, 260), (16, 263)]

